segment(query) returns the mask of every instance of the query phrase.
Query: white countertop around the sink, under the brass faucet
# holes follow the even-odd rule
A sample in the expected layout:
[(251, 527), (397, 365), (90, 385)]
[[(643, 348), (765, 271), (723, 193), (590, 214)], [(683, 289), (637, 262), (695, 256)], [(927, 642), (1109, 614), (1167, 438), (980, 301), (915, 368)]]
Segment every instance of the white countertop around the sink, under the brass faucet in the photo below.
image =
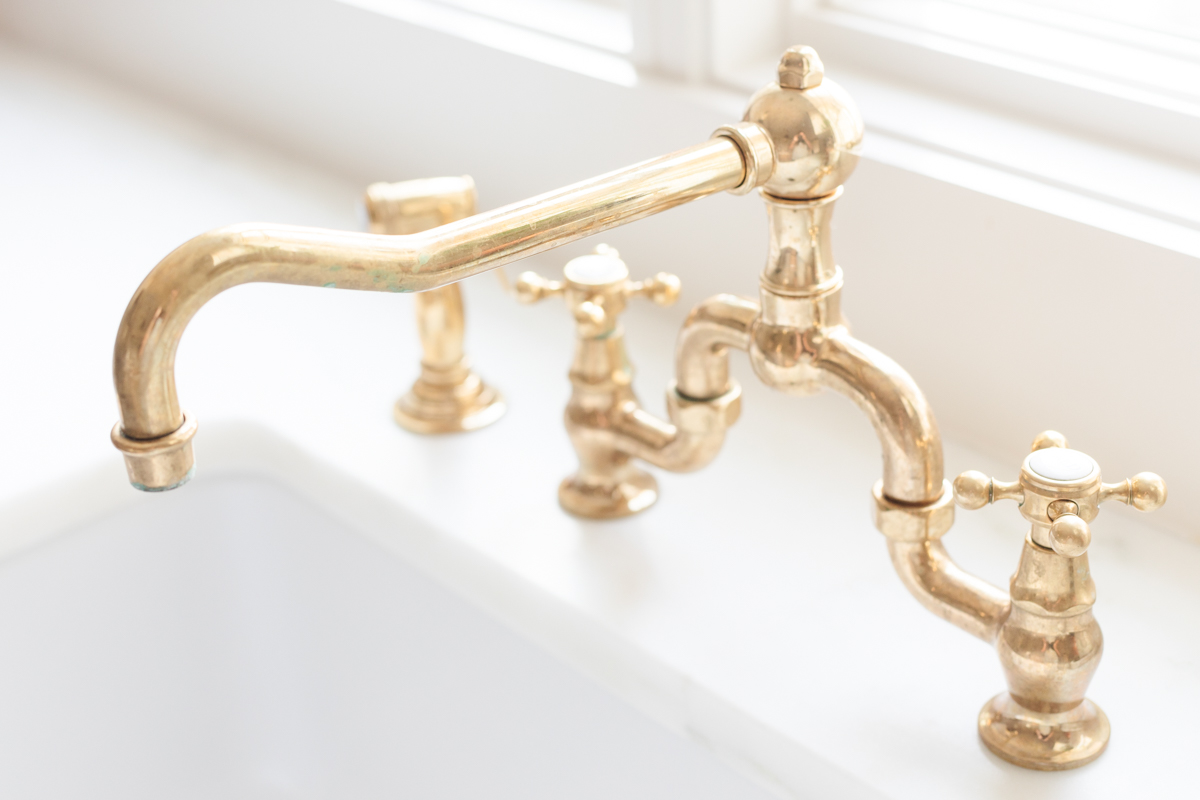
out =
[[(360, 228), (362, 187), (11, 48), (0, 49), (0, 549), (13, 552), (155, 499), (124, 486), (108, 443), (112, 342), (145, 272), (221, 224)], [(635, 278), (664, 266), (630, 264)], [(1194, 545), (1105, 509), (1091, 553), (1106, 652), (1090, 696), (1112, 744), (1067, 774), (1010, 766), (974, 733), (1004, 688), (998, 661), (893, 573), (868, 513), (878, 447), (848, 402), (772, 393), (734, 355), (743, 417), (716, 462), (659, 473), (647, 513), (582, 522), (554, 500), (574, 467), (566, 312), (517, 306), (490, 276), (466, 295), (468, 351), (510, 410), (451, 438), (391, 421), (416, 371), (410, 299), (278, 285), (217, 297), (178, 359), (182, 405), (200, 425), (197, 480), (260, 471), (298, 487), (785, 794), (1092, 799), (1200, 786)], [(658, 413), (685, 313), (626, 314), (638, 389)], [(948, 443), (948, 474), (1013, 477), (1025, 444), (997, 464)], [(437, 535), (394, 524), (397, 510)], [(1000, 506), (960, 512), (947, 543), (1003, 585), (1021, 535), (1020, 516)]]

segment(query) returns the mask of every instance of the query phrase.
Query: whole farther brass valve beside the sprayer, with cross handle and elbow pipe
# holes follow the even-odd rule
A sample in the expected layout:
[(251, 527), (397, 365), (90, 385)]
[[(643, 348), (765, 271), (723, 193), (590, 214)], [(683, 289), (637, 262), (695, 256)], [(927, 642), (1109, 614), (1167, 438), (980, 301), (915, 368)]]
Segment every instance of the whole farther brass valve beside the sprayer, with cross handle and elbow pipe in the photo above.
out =
[(558, 487), (558, 500), (581, 517), (624, 517), (658, 499), (654, 476), (635, 459), (674, 471), (700, 469), (718, 453), (725, 429), (737, 420), (742, 391), (731, 384), (718, 397), (692, 401), (672, 389), (671, 421), (648, 414), (634, 395), (634, 368), (618, 317), (634, 296), (660, 306), (673, 303), (679, 278), (659, 272), (647, 281), (630, 281), (617, 251), (605, 245), (568, 261), (563, 277), (546, 281), (524, 272), (516, 283), (522, 302), (562, 295), (575, 318), (571, 398), (564, 420), (580, 469)]

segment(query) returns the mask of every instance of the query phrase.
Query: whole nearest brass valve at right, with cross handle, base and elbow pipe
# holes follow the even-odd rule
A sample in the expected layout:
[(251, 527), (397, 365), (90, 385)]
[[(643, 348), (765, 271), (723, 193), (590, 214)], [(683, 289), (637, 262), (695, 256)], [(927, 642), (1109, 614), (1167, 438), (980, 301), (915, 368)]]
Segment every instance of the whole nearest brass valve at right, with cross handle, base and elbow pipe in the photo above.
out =
[[(883, 511), (894, 504), (878, 499)], [(1109, 720), (1085, 697), (1100, 663), (1103, 638), (1092, 615), (1096, 584), (1087, 564), (1091, 523), (1099, 504), (1120, 500), (1141, 511), (1166, 501), (1163, 479), (1141, 473), (1104, 483), (1099, 465), (1069, 450), (1062, 434), (1033, 441), (1016, 481), (967, 471), (954, 481), (954, 500), (982, 509), (1014, 500), (1030, 521), (1008, 594), (965, 575), (938, 537), (953, 515), (922, 534), (883, 527), (896, 569), (922, 603), (985, 642), (995, 643), (1008, 680), (979, 712), (979, 736), (1001, 758), (1038, 770), (1082, 766), (1109, 744)], [(901, 515), (902, 516), (902, 515)]]

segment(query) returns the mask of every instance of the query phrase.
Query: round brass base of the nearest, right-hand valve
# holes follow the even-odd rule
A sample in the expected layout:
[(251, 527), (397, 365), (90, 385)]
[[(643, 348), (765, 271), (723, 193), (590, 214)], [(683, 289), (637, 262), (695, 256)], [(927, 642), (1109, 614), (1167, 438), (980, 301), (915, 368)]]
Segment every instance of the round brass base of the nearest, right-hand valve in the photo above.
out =
[(979, 711), (979, 738), (1006, 762), (1033, 770), (1091, 764), (1109, 745), (1109, 718), (1088, 699), (1061, 714), (1031, 711), (1003, 692)]

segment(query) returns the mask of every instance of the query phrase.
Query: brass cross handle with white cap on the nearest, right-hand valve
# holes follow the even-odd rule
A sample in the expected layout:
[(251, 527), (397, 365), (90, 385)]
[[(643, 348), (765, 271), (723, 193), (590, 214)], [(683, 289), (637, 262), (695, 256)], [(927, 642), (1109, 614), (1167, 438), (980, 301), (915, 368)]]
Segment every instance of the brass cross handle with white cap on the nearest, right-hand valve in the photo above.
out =
[(1061, 433), (1045, 431), (1033, 440), (1018, 480), (997, 481), (976, 470), (954, 479), (954, 503), (960, 507), (982, 509), (996, 500), (1016, 500), (1021, 516), (1033, 523), (1033, 540), (1074, 558), (1087, 551), (1092, 541), (1087, 523), (1102, 503), (1117, 500), (1154, 511), (1166, 501), (1166, 485), (1154, 473), (1104, 483), (1091, 456), (1070, 450)]

